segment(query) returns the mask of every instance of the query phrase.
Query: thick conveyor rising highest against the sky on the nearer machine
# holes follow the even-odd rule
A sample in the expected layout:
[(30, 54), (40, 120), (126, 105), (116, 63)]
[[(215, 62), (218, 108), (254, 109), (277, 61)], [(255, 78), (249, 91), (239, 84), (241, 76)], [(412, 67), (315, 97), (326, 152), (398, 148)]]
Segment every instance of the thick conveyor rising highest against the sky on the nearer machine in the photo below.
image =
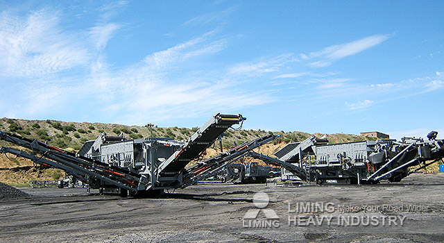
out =
[(157, 173), (161, 176), (178, 174), (191, 160), (198, 157), (207, 149), (214, 140), (234, 124), (244, 121), (242, 115), (221, 115), (217, 114), (207, 121), (201, 128), (192, 135), (185, 146), (176, 151), (158, 167)]

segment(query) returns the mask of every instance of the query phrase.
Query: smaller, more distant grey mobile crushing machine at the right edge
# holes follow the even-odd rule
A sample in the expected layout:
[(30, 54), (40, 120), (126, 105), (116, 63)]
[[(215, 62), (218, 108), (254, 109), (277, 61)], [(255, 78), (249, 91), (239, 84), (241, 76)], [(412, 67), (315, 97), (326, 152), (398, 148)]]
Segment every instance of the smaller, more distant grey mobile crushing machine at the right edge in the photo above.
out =
[[(430, 135), (430, 134), (434, 135)], [(382, 180), (400, 182), (420, 169), (444, 158), (444, 141), (403, 137), (401, 141), (377, 140), (327, 144), (327, 140), (311, 136), (303, 142), (288, 144), (275, 153), (278, 158), (248, 151), (244, 156), (282, 167), (302, 181), (317, 184), (376, 184)], [(416, 167), (412, 169), (412, 167)]]

